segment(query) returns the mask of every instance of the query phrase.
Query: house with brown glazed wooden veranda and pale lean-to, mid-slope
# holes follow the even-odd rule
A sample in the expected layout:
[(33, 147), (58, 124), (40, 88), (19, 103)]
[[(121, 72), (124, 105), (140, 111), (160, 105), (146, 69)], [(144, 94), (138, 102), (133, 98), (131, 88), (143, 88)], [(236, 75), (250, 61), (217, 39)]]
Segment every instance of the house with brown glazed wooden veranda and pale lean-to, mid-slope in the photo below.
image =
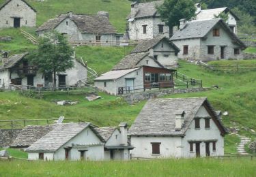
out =
[(165, 68), (149, 53), (132, 53), (117, 63), (112, 71), (96, 78), (94, 86), (113, 95), (173, 87), (174, 71)]

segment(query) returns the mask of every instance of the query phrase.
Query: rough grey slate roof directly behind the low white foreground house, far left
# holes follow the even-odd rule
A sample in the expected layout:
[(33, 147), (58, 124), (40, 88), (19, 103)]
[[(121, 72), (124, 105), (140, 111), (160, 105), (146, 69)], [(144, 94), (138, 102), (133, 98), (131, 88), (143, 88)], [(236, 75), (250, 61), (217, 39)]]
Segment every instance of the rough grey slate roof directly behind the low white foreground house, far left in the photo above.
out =
[(27, 148), (34, 142), (42, 138), (44, 135), (53, 130), (54, 125), (46, 126), (27, 126), (25, 127), (11, 144), (13, 148)]

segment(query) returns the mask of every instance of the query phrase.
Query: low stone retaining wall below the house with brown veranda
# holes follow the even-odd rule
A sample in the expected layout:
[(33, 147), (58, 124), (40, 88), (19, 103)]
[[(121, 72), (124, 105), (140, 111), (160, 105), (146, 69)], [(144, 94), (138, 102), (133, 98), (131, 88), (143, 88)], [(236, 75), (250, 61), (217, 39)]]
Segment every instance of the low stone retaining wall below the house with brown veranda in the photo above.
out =
[(193, 93), (193, 92), (200, 92), (200, 91), (206, 91), (206, 90), (208, 90), (208, 88), (184, 88), (184, 89), (170, 88), (170, 89), (162, 89), (162, 90), (129, 93), (126, 95), (122, 95), (122, 97), (128, 103), (133, 104), (133, 103), (138, 103), (139, 101), (143, 101), (145, 99), (157, 98), (165, 95), (172, 95), (176, 93)]

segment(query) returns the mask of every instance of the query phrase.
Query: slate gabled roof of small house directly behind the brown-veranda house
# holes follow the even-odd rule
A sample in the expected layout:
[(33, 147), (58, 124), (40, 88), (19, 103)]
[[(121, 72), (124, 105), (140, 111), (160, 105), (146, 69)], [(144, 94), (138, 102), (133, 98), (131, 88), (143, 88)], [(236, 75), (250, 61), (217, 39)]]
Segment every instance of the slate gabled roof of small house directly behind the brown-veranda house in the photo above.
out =
[(153, 39), (144, 39), (139, 42), (139, 44), (132, 50), (132, 53), (138, 53), (138, 52), (148, 52), (151, 48), (154, 48), (158, 43), (162, 42), (162, 40), (167, 41), (171, 48), (175, 50), (175, 52), (179, 52), (180, 49), (173, 44), (167, 37), (155, 37)]

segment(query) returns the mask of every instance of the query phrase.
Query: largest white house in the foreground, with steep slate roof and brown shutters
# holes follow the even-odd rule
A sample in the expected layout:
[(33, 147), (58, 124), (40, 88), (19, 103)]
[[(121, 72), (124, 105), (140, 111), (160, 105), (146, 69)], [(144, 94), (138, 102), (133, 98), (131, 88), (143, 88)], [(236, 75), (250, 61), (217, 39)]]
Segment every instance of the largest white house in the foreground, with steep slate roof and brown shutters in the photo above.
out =
[(206, 98), (150, 99), (128, 131), (132, 158), (224, 155), (227, 130)]

